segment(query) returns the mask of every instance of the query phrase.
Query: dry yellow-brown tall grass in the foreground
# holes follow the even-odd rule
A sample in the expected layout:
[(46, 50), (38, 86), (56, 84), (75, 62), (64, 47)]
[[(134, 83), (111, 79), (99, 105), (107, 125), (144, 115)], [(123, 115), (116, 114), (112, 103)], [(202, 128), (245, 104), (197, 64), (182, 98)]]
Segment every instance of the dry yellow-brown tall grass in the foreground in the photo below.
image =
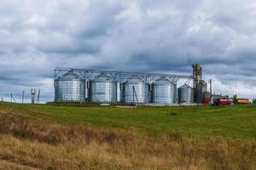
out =
[(149, 136), (0, 113), (0, 169), (256, 169), (256, 142)]

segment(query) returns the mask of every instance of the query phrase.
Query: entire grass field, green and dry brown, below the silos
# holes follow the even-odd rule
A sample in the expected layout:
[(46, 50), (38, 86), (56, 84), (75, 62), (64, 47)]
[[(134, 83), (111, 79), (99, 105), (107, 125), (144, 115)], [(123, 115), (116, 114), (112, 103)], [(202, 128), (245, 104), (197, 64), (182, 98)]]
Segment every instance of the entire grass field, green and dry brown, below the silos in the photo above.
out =
[(3, 169), (256, 169), (256, 105), (0, 103), (0, 134)]

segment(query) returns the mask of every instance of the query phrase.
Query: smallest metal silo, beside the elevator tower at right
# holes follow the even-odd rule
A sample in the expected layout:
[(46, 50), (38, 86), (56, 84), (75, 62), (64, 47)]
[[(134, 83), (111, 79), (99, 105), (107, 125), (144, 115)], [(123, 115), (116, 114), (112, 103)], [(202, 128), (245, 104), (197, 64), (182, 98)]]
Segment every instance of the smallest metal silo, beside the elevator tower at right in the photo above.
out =
[(194, 103), (194, 89), (189, 85), (184, 84), (177, 88), (177, 103), (178, 104), (193, 104)]

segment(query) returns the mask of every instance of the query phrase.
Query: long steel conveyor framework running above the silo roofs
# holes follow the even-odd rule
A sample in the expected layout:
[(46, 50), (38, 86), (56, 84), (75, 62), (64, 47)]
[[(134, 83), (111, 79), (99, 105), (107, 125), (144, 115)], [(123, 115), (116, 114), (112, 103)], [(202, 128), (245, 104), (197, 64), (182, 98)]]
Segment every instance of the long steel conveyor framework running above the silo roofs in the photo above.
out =
[(77, 73), (81, 78), (91, 80), (96, 75), (101, 73), (106, 74), (109, 77), (112, 77), (117, 82), (124, 82), (128, 77), (137, 76), (143, 78), (145, 82), (154, 82), (160, 77), (166, 77), (173, 83), (177, 83), (179, 79), (187, 79), (190, 81), (193, 79), (193, 76), (183, 76), (183, 75), (172, 75), (172, 74), (158, 74), (158, 73), (146, 73), (146, 72), (130, 72), (130, 71), (103, 71), (103, 70), (90, 70), (90, 69), (75, 69), (75, 68), (55, 68), (54, 78), (57, 79), (68, 71), (73, 71)]

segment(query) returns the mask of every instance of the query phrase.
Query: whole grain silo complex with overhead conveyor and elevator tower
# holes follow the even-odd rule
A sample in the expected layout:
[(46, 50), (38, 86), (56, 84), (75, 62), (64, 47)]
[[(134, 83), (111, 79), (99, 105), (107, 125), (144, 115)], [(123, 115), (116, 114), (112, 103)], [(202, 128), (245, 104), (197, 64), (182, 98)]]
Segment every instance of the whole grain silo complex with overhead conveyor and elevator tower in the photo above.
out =
[[(123, 104), (203, 103), (207, 83), (200, 65), (192, 65), (193, 76), (86, 69), (55, 69), (55, 101)], [(194, 81), (177, 88), (179, 79)]]

